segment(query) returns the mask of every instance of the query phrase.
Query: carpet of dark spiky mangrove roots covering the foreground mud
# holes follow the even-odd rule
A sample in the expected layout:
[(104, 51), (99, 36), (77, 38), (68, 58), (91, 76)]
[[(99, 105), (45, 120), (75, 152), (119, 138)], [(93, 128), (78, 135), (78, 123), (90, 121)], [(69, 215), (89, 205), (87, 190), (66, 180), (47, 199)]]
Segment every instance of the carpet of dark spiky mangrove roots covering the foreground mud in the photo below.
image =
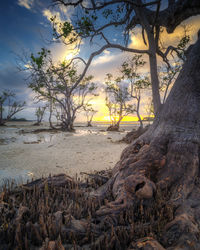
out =
[[(5, 187), (0, 195), (1, 249), (163, 249), (158, 242), (169, 247), (173, 239), (165, 239), (164, 226), (173, 220), (173, 206), (166, 202), (167, 190), (108, 216), (98, 214), (114, 198), (109, 194), (99, 200), (91, 194), (110, 174), (92, 174), (84, 182), (61, 174)], [(171, 238), (177, 237), (174, 231)]]

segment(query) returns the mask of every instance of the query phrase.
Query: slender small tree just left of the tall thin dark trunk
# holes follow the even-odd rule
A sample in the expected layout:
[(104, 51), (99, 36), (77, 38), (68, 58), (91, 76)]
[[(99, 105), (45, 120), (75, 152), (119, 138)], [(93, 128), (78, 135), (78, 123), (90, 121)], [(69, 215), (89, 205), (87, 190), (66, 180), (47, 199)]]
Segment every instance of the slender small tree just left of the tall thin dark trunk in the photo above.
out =
[(122, 78), (129, 84), (129, 94), (136, 101), (135, 112), (140, 122), (140, 127), (143, 127), (142, 118), (140, 115), (141, 90), (147, 89), (151, 84), (147, 76), (139, 74), (139, 68), (145, 65), (142, 55), (134, 55), (127, 59), (121, 65)]

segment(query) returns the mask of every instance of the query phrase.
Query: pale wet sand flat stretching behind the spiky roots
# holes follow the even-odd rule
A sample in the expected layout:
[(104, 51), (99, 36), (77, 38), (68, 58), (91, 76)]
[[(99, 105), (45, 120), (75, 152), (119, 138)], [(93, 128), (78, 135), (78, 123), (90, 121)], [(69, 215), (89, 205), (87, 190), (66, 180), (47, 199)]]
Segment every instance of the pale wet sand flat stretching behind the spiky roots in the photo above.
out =
[(78, 127), (76, 133), (19, 133), (37, 128), (27, 122), (0, 127), (0, 183), (7, 178), (22, 182), (49, 174), (74, 176), (112, 168), (127, 146), (116, 143), (126, 132), (100, 131), (106, 126)]

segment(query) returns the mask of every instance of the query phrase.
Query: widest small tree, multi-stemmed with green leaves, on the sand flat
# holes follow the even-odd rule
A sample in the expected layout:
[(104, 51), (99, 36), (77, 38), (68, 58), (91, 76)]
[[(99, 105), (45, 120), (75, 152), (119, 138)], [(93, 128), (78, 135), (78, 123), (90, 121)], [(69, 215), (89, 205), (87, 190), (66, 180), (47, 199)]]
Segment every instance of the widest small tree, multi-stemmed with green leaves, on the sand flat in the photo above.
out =
[(55, 64), (50, 51), (46, 49), (42, 49), (37, 57), (31, 55), (29, 71), (32, 79), (29, 87), (37, 94), (37, 98), (50, 103), (50, 114), (56, 107), (62, 129), (74, 130), (77, 112), (87, 104), (86, 97), (95, 95), (93, 77), (87, 76), (79, 81), (74, 62)]

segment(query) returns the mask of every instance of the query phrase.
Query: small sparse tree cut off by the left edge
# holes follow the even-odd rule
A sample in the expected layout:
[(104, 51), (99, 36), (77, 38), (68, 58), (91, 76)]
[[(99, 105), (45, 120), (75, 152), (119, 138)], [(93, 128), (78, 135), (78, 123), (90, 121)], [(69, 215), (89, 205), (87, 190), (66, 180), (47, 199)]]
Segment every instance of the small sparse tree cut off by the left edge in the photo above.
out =
[[(16, 96), (15, 93), (9, 90), (4, 90), (0, 94), (0, 126), (4, 125), (15, 114), (24, 109), (26, 103), (13, 101), (15, 96)], [(5, 112), (6, 109), (7, 109), (7, 115), (5, 116), (3, 113)]]

